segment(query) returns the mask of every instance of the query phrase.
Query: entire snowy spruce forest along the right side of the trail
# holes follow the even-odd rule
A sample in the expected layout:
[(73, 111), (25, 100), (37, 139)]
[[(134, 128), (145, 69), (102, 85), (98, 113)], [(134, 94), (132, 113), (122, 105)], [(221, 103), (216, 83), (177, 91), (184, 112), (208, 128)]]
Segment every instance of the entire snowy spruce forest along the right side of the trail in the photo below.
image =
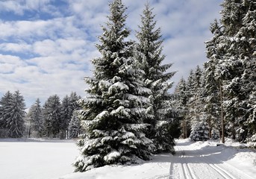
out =
[(207, 62), (176, 88), (183, 136), (256, 141), (256, 3), (227, 0), (210, 25)]

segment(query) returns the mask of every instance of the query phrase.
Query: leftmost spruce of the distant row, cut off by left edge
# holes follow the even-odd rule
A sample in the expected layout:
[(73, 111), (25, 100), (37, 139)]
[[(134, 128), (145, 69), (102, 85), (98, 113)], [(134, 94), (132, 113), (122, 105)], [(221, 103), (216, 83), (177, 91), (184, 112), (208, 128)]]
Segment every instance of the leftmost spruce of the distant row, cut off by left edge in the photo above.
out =
[(0, 130), (1, 137), (7, 137), (8, 129), (7, 129), (7, 119), (10, 118), (10, 113), (8, 113), (8, 109), (10, 108), (10, 102), (13, 98), (13, 94), (10, 91), (7, 91), (4, 96), (1, 97), (0, 100)]

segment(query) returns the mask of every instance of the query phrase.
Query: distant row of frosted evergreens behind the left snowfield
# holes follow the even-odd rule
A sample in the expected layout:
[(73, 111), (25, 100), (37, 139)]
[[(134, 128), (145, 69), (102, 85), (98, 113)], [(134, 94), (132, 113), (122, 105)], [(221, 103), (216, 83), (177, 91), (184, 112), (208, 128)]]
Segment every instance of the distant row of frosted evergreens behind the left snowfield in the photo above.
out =
[(0, 137), (77, 137), (81, 131), (75, 115), (80, 97), (72, 92), (60, 102), (57, 95), (50, 96), (41, 107), (39, 98), (25, 113), (25, 102), (19, 91), (6, 92), (0, 100)]

